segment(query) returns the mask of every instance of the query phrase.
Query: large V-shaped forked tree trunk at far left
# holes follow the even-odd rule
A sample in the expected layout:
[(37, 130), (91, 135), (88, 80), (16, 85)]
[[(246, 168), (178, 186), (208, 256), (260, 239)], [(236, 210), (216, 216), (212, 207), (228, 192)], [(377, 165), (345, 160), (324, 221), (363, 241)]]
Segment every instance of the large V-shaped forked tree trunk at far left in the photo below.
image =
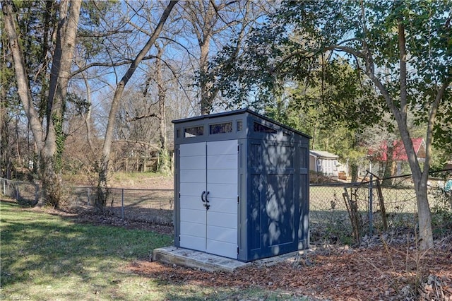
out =
[[(18, 96), (27, 115), (30, 129), (35, 137), (37, 151), (40, 154), (40, 179), (42, 198), (39, 205), (49, 204), (57, 207), (61, 197), (61, 180), (56, 159), (64, 146), (62, 132), (64, 100), (70, 78), (73, 52), (76, 47), (78, 17), (81, 0), (64, 0), (60, 3), (57, 46), (50, 73), (49, 98), (47, 99), (47, 128), (41, 127), (40, 119), (32, 102), (28, 75), (25, 69), (23, 50), (20, 47), (16, 31), (15, 16), (11, 1), (2, 1), (5, 31), (13, 57), (14, 71), (18, 85)], [(45, 133), (45, 137), (44, 137)], [(57, 155), (57, 156), (56, 156)]]

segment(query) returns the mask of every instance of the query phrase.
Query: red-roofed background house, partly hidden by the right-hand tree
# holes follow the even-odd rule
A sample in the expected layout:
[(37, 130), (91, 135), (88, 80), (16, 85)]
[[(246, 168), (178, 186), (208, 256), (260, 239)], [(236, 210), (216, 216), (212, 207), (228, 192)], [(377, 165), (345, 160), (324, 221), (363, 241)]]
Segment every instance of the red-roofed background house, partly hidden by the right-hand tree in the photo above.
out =
[[(412, 138), (412, 146), (415, 149), (415, 154), (419, 162), (425, 160), (425, 141), (424, 138)], [(369, 151), (372, 161), (380, 163), (380, 169), (383, 166), (391, 168), (391, 175), (402, 175), (403, 167), (408, 162), (408, 155), (405, 151), (405, 146), (401, 140), (383, 141), (377, 152)]]

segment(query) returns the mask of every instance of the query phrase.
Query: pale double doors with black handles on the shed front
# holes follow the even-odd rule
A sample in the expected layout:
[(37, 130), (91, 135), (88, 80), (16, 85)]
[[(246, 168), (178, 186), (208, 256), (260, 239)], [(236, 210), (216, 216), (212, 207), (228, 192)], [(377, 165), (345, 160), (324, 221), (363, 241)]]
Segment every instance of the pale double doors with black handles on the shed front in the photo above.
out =
[(180, 246), (237, 259), (237, 140), (180, 146)]

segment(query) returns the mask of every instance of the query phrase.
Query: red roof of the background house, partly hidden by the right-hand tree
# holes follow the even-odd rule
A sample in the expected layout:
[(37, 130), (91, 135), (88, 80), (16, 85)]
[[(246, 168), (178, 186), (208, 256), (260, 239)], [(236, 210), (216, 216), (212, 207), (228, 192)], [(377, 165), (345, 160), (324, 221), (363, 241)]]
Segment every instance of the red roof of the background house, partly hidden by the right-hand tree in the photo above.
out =
[[(415, 153), (417, 158), (425, 158), (425, 141), (424, 138), (412, 138), (412, 146), (415, 149)], [(405, 151), (405, 146), (403, 146), (403, 142), (401, 140), (393, 141), (392, 147), (392, 160), (393, 161), (408, 161), (408, 155)], [(387, 161), (388, 160), (388, 141), (383, 141), (381, 143), (379, 151), (377, 151), (374, 155), (376, 160), (379, 161)], [(369, 152), (369, 155), (372, 155), (372, 152)]]

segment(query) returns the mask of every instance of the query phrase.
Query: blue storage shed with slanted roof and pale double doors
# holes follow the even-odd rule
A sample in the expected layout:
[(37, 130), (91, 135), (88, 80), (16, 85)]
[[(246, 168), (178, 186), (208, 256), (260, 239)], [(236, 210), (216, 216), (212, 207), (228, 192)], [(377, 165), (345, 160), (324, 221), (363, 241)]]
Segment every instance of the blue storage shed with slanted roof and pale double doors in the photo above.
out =
[(176, 247), (239, 261), (307, 249), (309, 136), (249, 109), (173, 123)]

